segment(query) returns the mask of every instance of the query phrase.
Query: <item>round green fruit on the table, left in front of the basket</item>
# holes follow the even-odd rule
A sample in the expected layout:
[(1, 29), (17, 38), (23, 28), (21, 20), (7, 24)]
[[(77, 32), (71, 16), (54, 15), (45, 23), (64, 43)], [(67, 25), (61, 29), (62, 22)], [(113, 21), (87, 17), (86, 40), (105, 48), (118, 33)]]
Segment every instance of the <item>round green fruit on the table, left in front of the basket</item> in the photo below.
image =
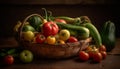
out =
[(33, 60), (33, 53), (29, 50), (23, 50), (20, 53), (20, 60), (24, 63), (30, 63)]

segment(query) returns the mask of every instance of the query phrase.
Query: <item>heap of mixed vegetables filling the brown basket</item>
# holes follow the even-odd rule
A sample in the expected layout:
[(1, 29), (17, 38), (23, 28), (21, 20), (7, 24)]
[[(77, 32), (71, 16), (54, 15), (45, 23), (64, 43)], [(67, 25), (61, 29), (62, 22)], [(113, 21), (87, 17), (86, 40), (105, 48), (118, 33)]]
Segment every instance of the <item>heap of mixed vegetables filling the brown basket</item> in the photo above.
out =
[[(45, 11), (45, 17), (31, 16), (22, 28), (22, 39), (32, 43), (65, 44), (77, 42), (92, 37), (96, 47), (102, 45), (101, 36), (97, 28), (91, 23), (87, 16), (76, 18), (67, 16), (52, 16), (52, 12)], [(49, 15), (48, 15), (49, 14)], [(14, 27), (18, 33), (21, 22)]]

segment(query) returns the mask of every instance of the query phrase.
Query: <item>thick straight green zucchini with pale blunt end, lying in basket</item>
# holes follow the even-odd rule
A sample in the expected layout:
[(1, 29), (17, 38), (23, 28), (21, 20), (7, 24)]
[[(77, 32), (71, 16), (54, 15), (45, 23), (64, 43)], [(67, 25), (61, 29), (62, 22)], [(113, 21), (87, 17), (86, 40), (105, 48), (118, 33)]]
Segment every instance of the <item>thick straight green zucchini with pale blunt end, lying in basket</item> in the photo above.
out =
[(89, 29), (83, 26), (76, 26), (71, 24), (56, 23), (60, 29), (68, 29), (71, 33), (74, 33), (75, 36), (79, 36), (80, 39), (86, 39), (89, 37)]

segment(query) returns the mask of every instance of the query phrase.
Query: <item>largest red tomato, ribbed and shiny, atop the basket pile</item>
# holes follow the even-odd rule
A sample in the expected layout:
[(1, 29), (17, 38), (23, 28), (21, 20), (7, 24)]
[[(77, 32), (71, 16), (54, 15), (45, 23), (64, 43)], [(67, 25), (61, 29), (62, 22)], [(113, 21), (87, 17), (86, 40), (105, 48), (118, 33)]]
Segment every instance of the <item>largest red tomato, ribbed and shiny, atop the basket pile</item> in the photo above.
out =
[(46, 22), (42, 26), (42, 32), (45, 37), (47, 36), (54, 36), (58, 33), (59, 27), (54, 22)]

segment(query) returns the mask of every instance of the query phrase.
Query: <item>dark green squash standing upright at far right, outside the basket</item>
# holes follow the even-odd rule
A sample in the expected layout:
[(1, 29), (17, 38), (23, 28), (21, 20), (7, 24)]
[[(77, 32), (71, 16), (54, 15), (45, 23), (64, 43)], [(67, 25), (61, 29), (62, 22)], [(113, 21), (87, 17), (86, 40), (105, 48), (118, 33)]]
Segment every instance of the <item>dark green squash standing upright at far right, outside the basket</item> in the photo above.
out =
[(101, 30), (102, 43), (106, 46), (108, 52), (115, 47), (115, 25), (111, 21), (104, 23)]

